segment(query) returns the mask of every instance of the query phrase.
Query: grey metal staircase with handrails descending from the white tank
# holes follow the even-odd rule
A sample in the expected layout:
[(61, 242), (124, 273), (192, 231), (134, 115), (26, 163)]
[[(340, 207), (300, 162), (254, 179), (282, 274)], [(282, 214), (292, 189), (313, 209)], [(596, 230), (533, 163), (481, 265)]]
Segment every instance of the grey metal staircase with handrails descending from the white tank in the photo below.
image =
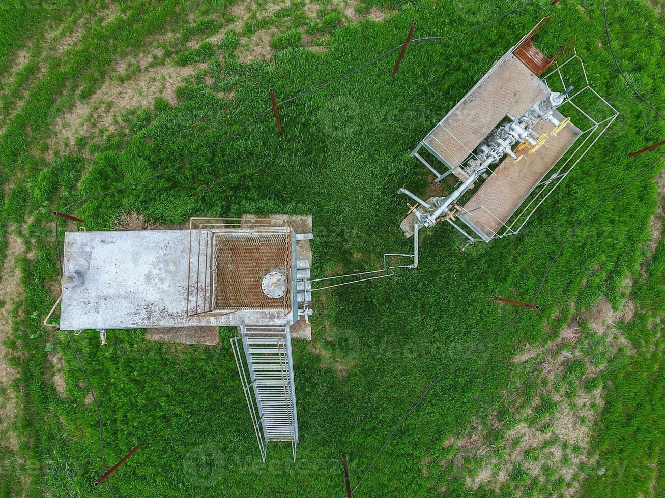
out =
[(293, 384), (289, 325), (240, 325), (231, 339), (254, 432), (265, 462), (268, 443), (289, 441), (293, 461), (298, 446), (298, 416)]

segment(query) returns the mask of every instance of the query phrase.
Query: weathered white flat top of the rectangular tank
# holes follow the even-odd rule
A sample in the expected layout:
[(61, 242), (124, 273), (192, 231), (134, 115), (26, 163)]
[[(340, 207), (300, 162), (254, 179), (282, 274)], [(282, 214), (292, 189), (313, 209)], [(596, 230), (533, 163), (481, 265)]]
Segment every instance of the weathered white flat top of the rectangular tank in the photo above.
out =
[(189, 230), (66, 232), (61, 329), (137, 329), (285, 323), (280, 311), (187, 315)]

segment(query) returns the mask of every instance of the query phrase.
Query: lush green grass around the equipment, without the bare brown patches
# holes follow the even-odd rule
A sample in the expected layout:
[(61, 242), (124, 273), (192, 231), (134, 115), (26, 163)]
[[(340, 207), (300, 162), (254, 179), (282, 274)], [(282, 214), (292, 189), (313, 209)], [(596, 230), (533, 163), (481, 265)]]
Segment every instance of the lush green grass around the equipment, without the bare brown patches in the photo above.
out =
[[(295, 464), (290, 448), (280, 444), (272, 444), (267, 463), (261, 463), (228, 346), (235, 330), (222, 329), (214, 348), (146, 343), (141, 331), (111, 331), (106, 346), (99, 345), (94, 331), (74, 337), (100, 400), (107, 465), (136, 444), (142, 446), (111, 479), (116, 495), (341, 495), (340, 455), (348, 454), (352, 483), (357, 482), (428, 382), (517, 312), (492, 297), (528, 300), (570, 230), (652, 161), (646, 154), (626, 159), (628, 152), (661, 140), (665, 127), (612, 67), (599, 5), (548, 4), (537, 2), (472, 35), (411, 46), (394, 79), (390, 70), (396, 54), (281, 107), (281, 135), (268, 115), (184, 169), (80, 205), (76, 214), (88, 230), (112, 228), (126, 210), (162, 223), (245, 212), (313, 214), (315, 274), (374, 269), (384, 252), (410, 251), (398, 227), (405, 199), (396, 190), (408, 187), (424, 194), (428, 181), (408, 151), (543, 15), (557, 14), (541, 33), (539, 46), (554, 52), (577, 36), (591, 84), (622, 113), (519, 236), (473, 246), (462, 255), (456, 234), (438, 226), (422, 244), (416, 272), (340, 288), (327, 293), (325, 301), (317, 299), (317, 341), (348, 365), (348, 374), (322, 368), (321, 356), (295, 341), (301, 434)], [(233, 43), (204, 46), (213, 84), (199, 81), (182, 88), (175, 108), (158, 100), (129, 116), (128, 133), (107, 141), (94, 161), (67, 156), (49, 162), (35, 147), (49, 132), (58, 106), (66, 105), (63, 99), (90, 96), (114, 58), (137, 50), (166, 23), (177, 26), (187, 9), (178, 3), (151, 9), (132, 3), (126, 21), (90, 31), (63, 60), (49, 61), (45, 76), (0, 137), (2, 179), (11, 185), (3, 221), (5, 227), (17, 227), (29, 220), (15, 229), (35, 254), (20, 262), (25, 299), (10, 344), (21, 351), (15, 359), (17, 388), (27, 409), (18, 427), (25, 443), (16, 456), (5, 456), (10, 462), (3, 469), (6, 493), (98, 493), (91, 485), (101, 470), (94, 406), (84, 402), (87, 391), (66, 336), (41, 325), (53, 303), (47, 284), (58, 278), (49, 212), (146, 178), (210, 147), (267, 108), (268, 88), (283, 100), (336, 78), (402, 42), (413, 20), (419, 37), (448, 35), (514, 4), (388, 5), (401, 10), (382, 23), (366, 21), (334, 31), (324, 54), (287, 48), (272, 64), (246, 65), (237, 62)], [(643, 1), (610, 2), (609, 7), (614, 48), (624, 70), (650, 102), (665, 108), (656, 78), (663, 66), (663, 32), (656, 16)], [(5, 19), (5, 24), (16, 20)], [(231, 85), (234, 99), (221, 100), (215, 90)], [(396, 433), (358, 495), (436, 491), (422, 473), (423, 457), (474, 416), (491, 412), (501, 390), (511, 388), (511, 356), (524, 343), (551, 339), (543, 329), (548, 317), (558, 313), (554, 323), (563, 325), (572, 301), (585, 309), (602, 293), (618, 304), (620, 284), (636, 269), (649, 238), (648, 217), (658, 199), (651, 180), (656, 173), (650, 171), (614, 197), (569, 242), (539, 296), (539, 313), (523, 315), (442, 378)], [(600, 277), (585, 285), (597, 264)], [(323, 339), (326, 326), (330, 341)], [(54, 349), (65, 357), (64, 398), (46, 371)], [(622, 434), (624, 422), (618, 416), (613, 420)], [(656, 444), (662, 447), (662, 437)], [(632, 459), (629, 474), (644, 465), (640, 454)], [(28, 484), (21, 484), (22, 475), (31, 478)]]

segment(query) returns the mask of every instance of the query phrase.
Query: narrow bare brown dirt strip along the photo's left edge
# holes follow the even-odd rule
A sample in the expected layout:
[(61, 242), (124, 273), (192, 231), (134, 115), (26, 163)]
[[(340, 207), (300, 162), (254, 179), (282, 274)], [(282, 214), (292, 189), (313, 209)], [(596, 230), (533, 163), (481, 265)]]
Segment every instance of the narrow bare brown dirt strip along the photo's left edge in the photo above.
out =
[(0, 274), (0, 386), (5, 393), (3, 402), (0, 403), (0, 433), (5, 434), (5, 437), (0, 445), (12, 452), (19, 447), (17, 434), (12, 428), (19, 408), (16, 394), (11, 389), (11, 384), (18, 375), (7, 361), (11, 357), (11, 352), (4, 343), (11, 337), (15, 303), (23, 297), (18, 259), (25, 254), (25, 245), (14, 234), (14, 228), (12, 225), (7, 227), (7, 258)]

